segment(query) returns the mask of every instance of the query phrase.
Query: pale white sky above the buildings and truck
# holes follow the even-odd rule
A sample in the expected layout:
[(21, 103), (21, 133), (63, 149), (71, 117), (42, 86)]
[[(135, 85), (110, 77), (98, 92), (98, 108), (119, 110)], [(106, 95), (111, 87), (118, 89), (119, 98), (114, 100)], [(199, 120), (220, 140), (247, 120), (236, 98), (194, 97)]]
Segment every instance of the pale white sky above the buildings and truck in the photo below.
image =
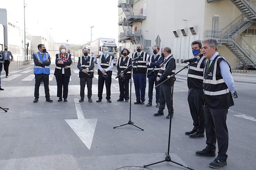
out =
[[(25, 0), (25, 6), (26, 32), (32, 36), (48, 32), (56, 43), (85, 44), (94, 26), (92, 41), (115, 38), (117, 43), (117, 0)], [(23, 0), (0, 0), (0, 8), (14, 19), (7, 18), (9, 22), (24, 30)]]

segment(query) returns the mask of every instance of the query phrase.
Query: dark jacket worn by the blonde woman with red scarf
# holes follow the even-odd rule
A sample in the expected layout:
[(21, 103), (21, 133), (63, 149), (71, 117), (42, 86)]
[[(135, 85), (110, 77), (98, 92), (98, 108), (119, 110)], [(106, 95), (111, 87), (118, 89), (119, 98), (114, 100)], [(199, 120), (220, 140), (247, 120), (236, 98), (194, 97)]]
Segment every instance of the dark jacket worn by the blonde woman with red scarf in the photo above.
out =
[[(59, 54), (56, 54), (55, 64), (57, 67), (61, 67), (61, 69), (55, 68), (54, 75), (57, 77), (62, 77), (62, 69), (64, 69), (64, 75), (70, 76), (71, 71), (70, 68), (64, 68), (65, 66), (70, 66), (72, 64), (71, 54), (69, 54), (68, 61), (64, 61), (63, 64), (58, 64)], [(68, 56), (68, 54), (67, 54)]]

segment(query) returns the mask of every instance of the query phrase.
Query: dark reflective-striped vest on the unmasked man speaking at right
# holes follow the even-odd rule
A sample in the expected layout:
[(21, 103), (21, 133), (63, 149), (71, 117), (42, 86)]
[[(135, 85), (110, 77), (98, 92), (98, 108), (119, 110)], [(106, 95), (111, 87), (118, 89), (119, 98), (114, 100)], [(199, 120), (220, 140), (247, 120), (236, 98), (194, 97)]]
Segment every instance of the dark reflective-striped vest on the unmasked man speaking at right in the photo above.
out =
[[(222, 56), (218, 55), (214, 58), (209, 69), (207, 68), (208, 60), (206, 60), (204, 64), (204, 99), (205, 104), (209, 108), (213, 109), (229, 108), (230, 106), (234, 105), (228, 86), (224, 82), (223, 77), (221, 76), (220, 62), (223, 60), (227, 62)], [(231, 73), (230, 66), (229, 71)]]

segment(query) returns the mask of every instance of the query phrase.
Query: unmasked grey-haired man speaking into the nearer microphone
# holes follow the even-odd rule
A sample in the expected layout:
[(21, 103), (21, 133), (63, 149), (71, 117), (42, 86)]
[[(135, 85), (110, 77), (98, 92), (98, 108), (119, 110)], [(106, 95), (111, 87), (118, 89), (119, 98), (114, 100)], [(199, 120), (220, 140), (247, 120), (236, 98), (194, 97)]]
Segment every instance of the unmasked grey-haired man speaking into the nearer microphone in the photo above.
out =
[(202, 40), (202, 52), (206, 63), (204, 65), (204, 114), (206, 128), (206, 148), (196, 151), (197, 156), (214, 157), (216, 140), (218, 156), (209, 167), (221, 168), (227, 165), (228, 128), (227, 113), (234, 105), (232, 95), (235, 91), (231, 68), (218, 51), (218, 40), (206, 38)]

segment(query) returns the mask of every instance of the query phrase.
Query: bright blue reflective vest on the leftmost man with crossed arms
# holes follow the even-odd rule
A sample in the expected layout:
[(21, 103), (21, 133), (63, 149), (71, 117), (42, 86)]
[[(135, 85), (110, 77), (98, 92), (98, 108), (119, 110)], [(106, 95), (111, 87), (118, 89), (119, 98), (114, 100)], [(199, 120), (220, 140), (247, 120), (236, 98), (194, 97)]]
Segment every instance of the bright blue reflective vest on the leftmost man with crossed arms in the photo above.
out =
[[(38, 59), (38, 61), (46, 61), (49, 58), (48, 53), (43, 53), (43, 57), (39, 52), (34, 53), (35, 57)], [(40, 67), (34, 65), (34, 74), (50, 74), (50, 66)]]

